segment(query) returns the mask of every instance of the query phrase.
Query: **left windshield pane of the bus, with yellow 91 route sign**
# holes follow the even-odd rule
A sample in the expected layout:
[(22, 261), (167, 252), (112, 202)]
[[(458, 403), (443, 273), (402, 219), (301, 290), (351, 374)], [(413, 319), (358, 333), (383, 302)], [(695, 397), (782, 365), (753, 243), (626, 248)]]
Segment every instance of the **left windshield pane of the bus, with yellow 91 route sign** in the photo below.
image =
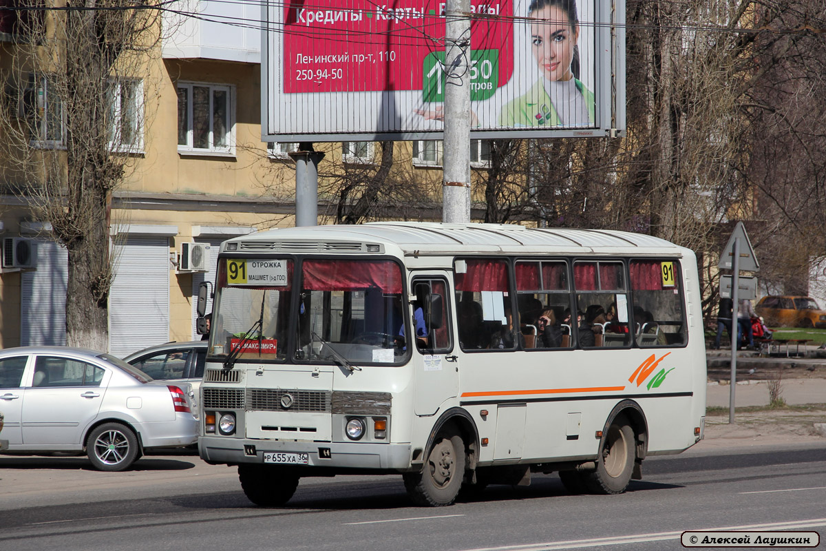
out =
[(287, 358), (292, 260), (221, 259), (210, 353), (240, 362)]

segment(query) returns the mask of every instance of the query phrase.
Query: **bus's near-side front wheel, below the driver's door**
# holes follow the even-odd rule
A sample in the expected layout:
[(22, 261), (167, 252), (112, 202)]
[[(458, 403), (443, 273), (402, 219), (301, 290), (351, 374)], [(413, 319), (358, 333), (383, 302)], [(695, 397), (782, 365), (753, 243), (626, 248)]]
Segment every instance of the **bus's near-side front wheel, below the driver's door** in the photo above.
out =
[(462, 437), (452, 430), (440, 431), (420, 473), (406, 473), (405, 488), (416, 505), (452, 505), (462, 488), (465, 449)]

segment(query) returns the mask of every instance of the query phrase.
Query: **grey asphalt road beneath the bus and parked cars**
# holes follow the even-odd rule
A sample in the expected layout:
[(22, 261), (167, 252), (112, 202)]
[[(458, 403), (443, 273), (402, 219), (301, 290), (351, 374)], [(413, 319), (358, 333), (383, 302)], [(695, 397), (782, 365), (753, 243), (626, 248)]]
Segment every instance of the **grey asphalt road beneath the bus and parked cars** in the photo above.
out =
[[(555, 475), (475, 501), (411, 506), (401, 477), (310, 478), (252, 506), (235, 469), (195, 456), (98, 473), (83, 458), (0, 458), (4, 549), (683, 549), (683, 530), (759, 525), (826, 535), (826, 443), (648, 458), (620, 496), (571, 496)], [(821, 543), (821, 549), (826, 543)]]

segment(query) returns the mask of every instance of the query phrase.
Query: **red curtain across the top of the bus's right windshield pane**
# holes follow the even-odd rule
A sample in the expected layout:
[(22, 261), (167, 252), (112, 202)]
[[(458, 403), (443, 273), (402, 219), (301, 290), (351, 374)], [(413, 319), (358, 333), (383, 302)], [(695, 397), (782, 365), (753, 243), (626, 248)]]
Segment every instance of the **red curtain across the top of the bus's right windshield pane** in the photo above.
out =
[(378, 287), (401, 293), (401, 269), (390, 261), (305, 260), (303, 287), (309, 291), (358, 291)]

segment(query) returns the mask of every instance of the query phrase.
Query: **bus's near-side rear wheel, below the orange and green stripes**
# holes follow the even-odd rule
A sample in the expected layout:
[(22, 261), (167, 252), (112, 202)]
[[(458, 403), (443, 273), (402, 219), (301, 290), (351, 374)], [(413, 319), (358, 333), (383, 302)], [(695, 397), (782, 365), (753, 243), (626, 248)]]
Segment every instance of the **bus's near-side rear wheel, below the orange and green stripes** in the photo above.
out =
[(636, 460), (634, 430), (623, 415), (616, 416), (602, 440), (596, 471), (588, 473), (586, 482), (591, 492), (620, 494), (631, 482)]

